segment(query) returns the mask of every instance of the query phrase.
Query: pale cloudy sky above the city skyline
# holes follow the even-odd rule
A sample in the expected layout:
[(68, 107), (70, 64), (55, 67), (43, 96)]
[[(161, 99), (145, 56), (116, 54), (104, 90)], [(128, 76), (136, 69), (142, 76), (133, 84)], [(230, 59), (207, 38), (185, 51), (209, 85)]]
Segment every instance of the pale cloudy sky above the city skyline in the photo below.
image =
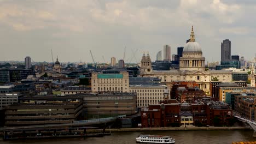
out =
[[(220, 45), (251, 60), (256, 52), (254, 0), (0, 0), (0, 61), (141, 61), (168, 44), (183, 46), (194, 26), (206, 61), (220, 61)], [(126, 48), (125, 48), (126, 47)]]

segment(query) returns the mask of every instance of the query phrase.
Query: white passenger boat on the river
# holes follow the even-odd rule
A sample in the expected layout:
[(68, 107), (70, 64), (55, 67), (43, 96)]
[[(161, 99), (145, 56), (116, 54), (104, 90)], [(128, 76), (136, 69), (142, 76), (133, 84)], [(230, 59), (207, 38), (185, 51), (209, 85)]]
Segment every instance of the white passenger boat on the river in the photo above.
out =
[(175, 143), (170, 136), (164, 135), (139, 135), (136, 137), (138, 143)]

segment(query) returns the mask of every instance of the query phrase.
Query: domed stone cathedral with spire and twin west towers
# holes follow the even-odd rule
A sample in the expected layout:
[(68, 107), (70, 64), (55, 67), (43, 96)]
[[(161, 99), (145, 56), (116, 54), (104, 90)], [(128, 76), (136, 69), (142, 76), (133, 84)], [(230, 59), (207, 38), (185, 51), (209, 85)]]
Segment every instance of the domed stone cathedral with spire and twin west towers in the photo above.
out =
[(232, 81), (231, 70), (205, 70), (205, 57), (202, 50), (195, 42), (192, 28), (190, 41), (184, 45), (183, 56), (180, 58), (179, 70), (152, 70), (149, 55), (143, 55), (141, 60), (140, 75), (142, 77), (158, 77), (161, 82), (196, 81), (200, 89), (210, 94), (210, 82), (217, 78), (218, 81)]

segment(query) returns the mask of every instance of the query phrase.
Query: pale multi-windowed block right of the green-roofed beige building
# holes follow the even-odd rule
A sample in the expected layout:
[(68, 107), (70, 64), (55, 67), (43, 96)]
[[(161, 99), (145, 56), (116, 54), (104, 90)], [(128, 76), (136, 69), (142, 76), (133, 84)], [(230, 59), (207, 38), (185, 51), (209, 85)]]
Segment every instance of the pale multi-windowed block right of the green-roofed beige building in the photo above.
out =
[(137, 95), (137, 107), (148, 107), (170, 99), (170, 89), (166, 85), (130, 85), (130, 92)]

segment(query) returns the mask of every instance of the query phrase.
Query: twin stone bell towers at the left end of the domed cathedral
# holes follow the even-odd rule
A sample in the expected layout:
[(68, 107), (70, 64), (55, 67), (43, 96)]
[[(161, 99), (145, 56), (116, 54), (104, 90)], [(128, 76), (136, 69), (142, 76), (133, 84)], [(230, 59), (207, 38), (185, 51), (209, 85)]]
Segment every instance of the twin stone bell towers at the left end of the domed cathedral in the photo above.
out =
[(145, 56), (145, 53), (143, 53), (140, 71), (141, 74), (150, 74), (152, 72), (152, 63), (149, 53), (147, 53), (147, 56)]

